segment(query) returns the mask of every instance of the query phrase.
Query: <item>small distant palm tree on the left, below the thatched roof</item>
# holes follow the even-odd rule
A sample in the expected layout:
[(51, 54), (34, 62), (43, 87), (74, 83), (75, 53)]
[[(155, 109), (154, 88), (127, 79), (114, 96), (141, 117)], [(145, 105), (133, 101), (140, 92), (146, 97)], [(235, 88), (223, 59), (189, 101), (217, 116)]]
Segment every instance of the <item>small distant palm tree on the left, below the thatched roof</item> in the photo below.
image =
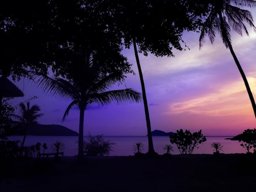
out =
[(21, 144), (21, 147), (24, 146), (25, 139), (27, 136), (27, 129), (29, 128), (30, 125), (32, 124), (37, 124), (38, 123), (38, 118), (43, 116), (43, 114), (38, 114), (40, 112), (40, 107), (38, 105), (32, 105), (31, 108), (29, 108), (29, 102), (27, 102), (27, 107), (24, 103), (20, 103), (20, 115), (16, 114), (11, 114), (13, 118), (16, 118), (18, 120), (18, 123), (22, 124), (24, 126), (24, 131), (23, 131), (23, 141)]

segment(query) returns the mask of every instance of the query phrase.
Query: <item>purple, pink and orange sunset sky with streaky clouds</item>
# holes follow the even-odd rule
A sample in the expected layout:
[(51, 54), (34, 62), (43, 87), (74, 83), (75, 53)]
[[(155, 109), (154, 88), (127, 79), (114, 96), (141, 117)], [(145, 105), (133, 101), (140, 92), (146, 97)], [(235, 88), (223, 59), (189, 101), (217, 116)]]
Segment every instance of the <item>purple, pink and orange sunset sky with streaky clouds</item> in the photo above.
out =
[[(256, 18), (256, 10), (253, 16)], [(250, 36), (231, 33), (232, 45), (256, 98), (256, 33), (248, 27)], [(185, 32), (183, 40), (190, 50), (174, 50), (175, 57), (143, 56), (139, 54), (144, 76), (150, 114), (151, 130), (176, 132), (202, 129), (205, 136), (235, 136), (245, 129), (256, 128), (256, 118), (243, 79), (229, 49), (216, 35), (211, 45), (209, 38), (199, 50), (199, 33)], [(133, 49), (124, 49), (135, 71), (128, 74), (125, 84), (141, 92), (141, 84)], [(58, 124), (78, 132), (79, 110), (62, 117), (71, 100), (60, 100), (45, 95), (32, 82), (15, 82), (25, 94), (14, 98), (13, 105), (33, 96), (31, 105), (39, 105), (43, 117), (40, 124)], [(125, 86), (113, 86), (124, 89)], [(18, 111), (17, 111), (18, 114)], [(91, 106), (85, 111), (84, 135), (146, 136), (146, 119), (143, 103), (110, 106)]]

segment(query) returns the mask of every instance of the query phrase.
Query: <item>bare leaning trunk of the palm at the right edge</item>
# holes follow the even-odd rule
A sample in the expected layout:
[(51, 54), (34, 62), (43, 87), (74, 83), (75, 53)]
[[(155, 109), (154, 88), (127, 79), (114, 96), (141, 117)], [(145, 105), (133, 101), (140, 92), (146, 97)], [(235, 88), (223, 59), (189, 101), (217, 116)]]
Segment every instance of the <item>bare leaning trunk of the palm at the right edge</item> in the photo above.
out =
[[(220, 13), (219, 16), (220, 16), (220, 25), (221, 25), (222, 29), (225, 29), (222, 14)], [(237, 57), (236, 57), (236, 54), (235, 54), (235, 52), (234, 52), (234, 50), (233, 50), (233, 47), (232, 47), (232, 45), (231, 45), (231, 42), (230, 42), (230, 40), (229, 40), (229, 38), (228, 38), (228, 36), (227, 36), (227, 33), (225, 33), (225, 31), (226, 31), (226, 30), (224, 30), (223, 36), (224, 36), (224, 38), (225, 38), (226, 41), (227, 41), (227, 45), (228, 45), (228, 47), (229, 47), (229, 51), (231, 52), (231, 55), (233, 56), (233, 58), (234, 58), (234, 60), (235, 60), (236, 66), (238, 67), (238, 70), (239, 70), (239, 72), (240, 72), (240, 74), (241, 74), (241, 76), (242, 76), (242, 78), (243, 78), (243, 81), (244, 81), (244, 83), (245, 83), (245, 87), (246, 87), (247, 93), (248, 93), (249, 98), (250, 98), (251, 103), (252, 103), (252, 108), (253, 108), (253, 111), (254, 111), (254, 116), (255, 116), (255, 118), (256, 118), (256, 104), (255, 104), (254, 97), (253, 97), (253, 95), (252, 95), (252, 91), (251, 91), (251, 89), (250, 89), (250, 86), (249, 86), (249, 83), (248, 83), (247, 78), (246, 78), (246, 76), (245, 76), (245, 73), (244, 73), (244, 71), (243, 71), (243, 69), (242, 69), (242, 67), (241, 67), (241, 65), (240, 65), (240, 63), (239, 63), (239, 61), (238, 61), (238, 59), (237, 59)]]

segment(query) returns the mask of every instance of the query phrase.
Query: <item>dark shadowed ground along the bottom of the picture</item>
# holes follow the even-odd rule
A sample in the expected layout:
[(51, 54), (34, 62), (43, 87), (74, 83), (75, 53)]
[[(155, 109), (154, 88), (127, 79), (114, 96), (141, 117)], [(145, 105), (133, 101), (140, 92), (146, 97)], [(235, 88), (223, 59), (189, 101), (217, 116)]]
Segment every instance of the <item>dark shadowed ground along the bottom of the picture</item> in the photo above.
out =
[(104, 156), (82, 163), (63, 157), (7, 164), (0, 192), (256, 191), (256, 157), (247, 154)]

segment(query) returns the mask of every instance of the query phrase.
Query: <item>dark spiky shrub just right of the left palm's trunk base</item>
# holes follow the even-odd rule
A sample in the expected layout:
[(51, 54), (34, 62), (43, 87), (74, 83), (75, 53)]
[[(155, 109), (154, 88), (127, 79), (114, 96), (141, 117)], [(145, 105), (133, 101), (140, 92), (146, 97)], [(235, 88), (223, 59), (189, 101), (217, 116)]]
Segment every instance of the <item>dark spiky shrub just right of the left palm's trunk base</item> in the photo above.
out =
[(92, 136), (89, 134), (88, 141), (83, 142), (83, 151), (88, 156), (109, 155), (112, 145), (116, 145), (116, 143), (104, 141), (103, 135)]

